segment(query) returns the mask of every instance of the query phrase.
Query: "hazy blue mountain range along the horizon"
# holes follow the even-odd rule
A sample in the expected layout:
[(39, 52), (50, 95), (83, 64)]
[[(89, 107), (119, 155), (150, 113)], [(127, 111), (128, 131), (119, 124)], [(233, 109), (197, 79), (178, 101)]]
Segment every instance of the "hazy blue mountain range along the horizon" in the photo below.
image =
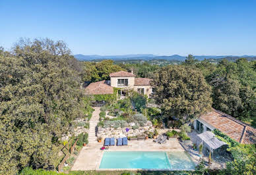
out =
[[(74, 55), (76, 59), (79, 61), (92, 61), (92, 60), (101, 60), (101, 59), (112, 59), (114, 61), (121, 61), (121, 60), (134, 60), (134, 59), (141, 59), (141, 60), (153, 60), (153, 59), (164, 59), (168, 61), (185, 61), (184, 56), (181, 55), (170, 55), (170, 56), (157, 56), (152, 54), (135, 54), (135, 55)], [(202, 61), (203, 59), (239, 59), (239, 58), (249, 58), (251, 60), (255, 60), (256, 56), (254, 55), (242, 55), (242, 56), (234, 56), (234, 55), (195, 55), (195, 59)]]

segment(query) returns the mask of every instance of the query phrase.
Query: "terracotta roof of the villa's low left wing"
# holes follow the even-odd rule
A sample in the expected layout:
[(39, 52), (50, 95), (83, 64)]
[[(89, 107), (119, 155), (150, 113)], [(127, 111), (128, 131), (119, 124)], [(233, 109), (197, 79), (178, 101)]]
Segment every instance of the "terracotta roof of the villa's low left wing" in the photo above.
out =
[(86, 95), (112, 94), (113, 87), (110, 86), (109, 80), (94, 82), (89, 84), (85, 89)]

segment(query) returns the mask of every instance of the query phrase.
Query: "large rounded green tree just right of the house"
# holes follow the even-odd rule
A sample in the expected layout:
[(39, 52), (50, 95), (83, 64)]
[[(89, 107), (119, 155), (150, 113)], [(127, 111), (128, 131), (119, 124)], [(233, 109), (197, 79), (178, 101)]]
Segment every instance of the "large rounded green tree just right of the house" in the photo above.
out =
[(153, 79), (156, 103), (164, 116), (181, 122), (207, 112), (211, 108), (211, 90), (200, 70), (185, 66), (166, 66)]

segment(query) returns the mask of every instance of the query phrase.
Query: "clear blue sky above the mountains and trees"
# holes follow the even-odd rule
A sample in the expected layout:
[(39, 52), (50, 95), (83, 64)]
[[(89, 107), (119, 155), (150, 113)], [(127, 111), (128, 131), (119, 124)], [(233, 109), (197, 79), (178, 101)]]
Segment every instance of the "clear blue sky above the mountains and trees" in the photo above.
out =
[(256, 1), (0, 1), (0, 45), (62, 39), (73, 54), (256, 55)]

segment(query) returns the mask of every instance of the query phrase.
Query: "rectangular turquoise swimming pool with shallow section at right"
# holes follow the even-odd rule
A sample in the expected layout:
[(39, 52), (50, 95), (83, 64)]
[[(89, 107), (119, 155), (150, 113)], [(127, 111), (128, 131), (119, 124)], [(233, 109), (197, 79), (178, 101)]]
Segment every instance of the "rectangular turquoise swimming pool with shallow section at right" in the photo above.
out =
[(194, 170), (195, 164), (185, 152), (106, 151), (99, 168)]

